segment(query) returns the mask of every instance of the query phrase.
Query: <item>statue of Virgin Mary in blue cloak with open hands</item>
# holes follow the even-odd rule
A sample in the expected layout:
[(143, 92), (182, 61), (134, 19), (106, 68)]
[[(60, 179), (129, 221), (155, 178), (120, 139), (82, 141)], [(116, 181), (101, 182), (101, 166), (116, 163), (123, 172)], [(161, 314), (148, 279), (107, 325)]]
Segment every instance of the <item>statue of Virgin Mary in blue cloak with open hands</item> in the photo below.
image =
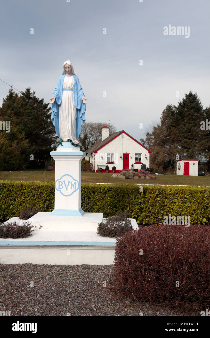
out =
[(50, 99), (51, 121), (60, 141), (78, 144), (78, 136), (85, 122), (87, 99), (70, 60), (63, 64), (63, 73)]

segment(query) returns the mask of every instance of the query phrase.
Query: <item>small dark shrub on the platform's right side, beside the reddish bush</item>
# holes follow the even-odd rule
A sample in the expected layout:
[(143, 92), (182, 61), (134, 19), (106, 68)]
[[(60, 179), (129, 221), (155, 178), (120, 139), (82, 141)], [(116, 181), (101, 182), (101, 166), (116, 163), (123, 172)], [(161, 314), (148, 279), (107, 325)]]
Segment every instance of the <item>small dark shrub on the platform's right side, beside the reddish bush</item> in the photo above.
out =
[(133, 231), (133, 227), (126, 211), (108, 217), (105, 222), (98, 223), (97, 228), (97, 234), (106, 237), (115, 237), (128, 231)]

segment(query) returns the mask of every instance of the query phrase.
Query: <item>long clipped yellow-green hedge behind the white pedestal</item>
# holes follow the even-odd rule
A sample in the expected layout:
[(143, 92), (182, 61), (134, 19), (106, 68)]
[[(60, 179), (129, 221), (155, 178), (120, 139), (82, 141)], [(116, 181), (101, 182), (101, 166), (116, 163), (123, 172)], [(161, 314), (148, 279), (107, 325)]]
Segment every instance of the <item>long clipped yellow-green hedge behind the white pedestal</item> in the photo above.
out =
[[(0, 181), (0, 219), (18, 216), (21, 209), (39, 206), (41, 212), (54, 209), (54, 183)], [(113, 216), (120, 210), (138, 224), (160, 224), (163, 216), (190, 216), (190, 223), (210, 223), (210, 188), (179, 186), (85, 184), (81, 207), (85, 212)]]

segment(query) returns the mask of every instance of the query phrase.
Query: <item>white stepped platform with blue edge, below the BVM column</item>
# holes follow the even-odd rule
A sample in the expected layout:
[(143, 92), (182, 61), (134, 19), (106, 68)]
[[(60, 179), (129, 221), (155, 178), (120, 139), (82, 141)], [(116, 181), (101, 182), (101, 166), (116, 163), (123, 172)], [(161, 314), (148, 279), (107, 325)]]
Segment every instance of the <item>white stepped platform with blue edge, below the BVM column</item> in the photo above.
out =
[[(41, 214), (41, 215), (40, 215)], [(45, 215), (43, 215), (45, 214)], [(31, 225), (40, 224), (40, 220), (46, 216), (46, 222), (49, 223), (49, 213), (38, 213), (28, 221)], [(54, 219), (52, 226), (48, 224), (43, 228), (32, 232), (32, 235), (26, 238), (0, 238), (0, 263), (2, 264), (92, 264), (107, 265), (114, 263), (115, 238), (103, 237), (96, 234), (96, 219), (101, 222), (106, 220), (103, 213), (85, 213), (86, 217), (76, 218), (72, 224), (69, 216), (65, 221)], [(42, 217), (42, 219), (41, 219)], [(61, 218), (60, 216), (51, 216)], [(102, 217), (102, 218), (101, 218)], [(35, 220), (34, 220), (35, 218)], [(78, 220), (79, 218), (79, 220)], [(81, 218), (83, 221), (81, 221)], [(33, 219), (33, 220), (32, 220)], [(91, 220), (87, 225), (87, 219)], [(138, 230), (135, 219), (130, 219), (133, 229)], [(12, 217), (7, 222), (17, 221), (20, 225), (26, 220), (18, 217)], [(5, 222), (6, 223), (6, 222)], [(65, 224), (66, 223), (66, 224)], [(55, 226), (57, 224), (57, 226)], [(61, 230), (62, 229), (62, 230)]]

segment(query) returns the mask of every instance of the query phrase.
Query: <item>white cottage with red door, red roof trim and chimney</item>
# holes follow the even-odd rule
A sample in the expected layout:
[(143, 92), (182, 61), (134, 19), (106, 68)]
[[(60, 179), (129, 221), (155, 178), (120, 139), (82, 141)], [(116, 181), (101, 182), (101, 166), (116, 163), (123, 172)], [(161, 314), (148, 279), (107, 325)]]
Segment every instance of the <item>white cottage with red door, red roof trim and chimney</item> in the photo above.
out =
[(127, 168), (141, 169), (145, 164), (149, 168), (149, 154), (151, 151), (144, 147), (139, 141), (127, 134), (124, 130), (109, 135), (109, 127), (101, 128), (101, 141), (94, 144), (85, 151), (85, 159), (93, 164), (95, 172), (105, 171), (106, 165), (109, 172), (116, 167), (116, 172)]

